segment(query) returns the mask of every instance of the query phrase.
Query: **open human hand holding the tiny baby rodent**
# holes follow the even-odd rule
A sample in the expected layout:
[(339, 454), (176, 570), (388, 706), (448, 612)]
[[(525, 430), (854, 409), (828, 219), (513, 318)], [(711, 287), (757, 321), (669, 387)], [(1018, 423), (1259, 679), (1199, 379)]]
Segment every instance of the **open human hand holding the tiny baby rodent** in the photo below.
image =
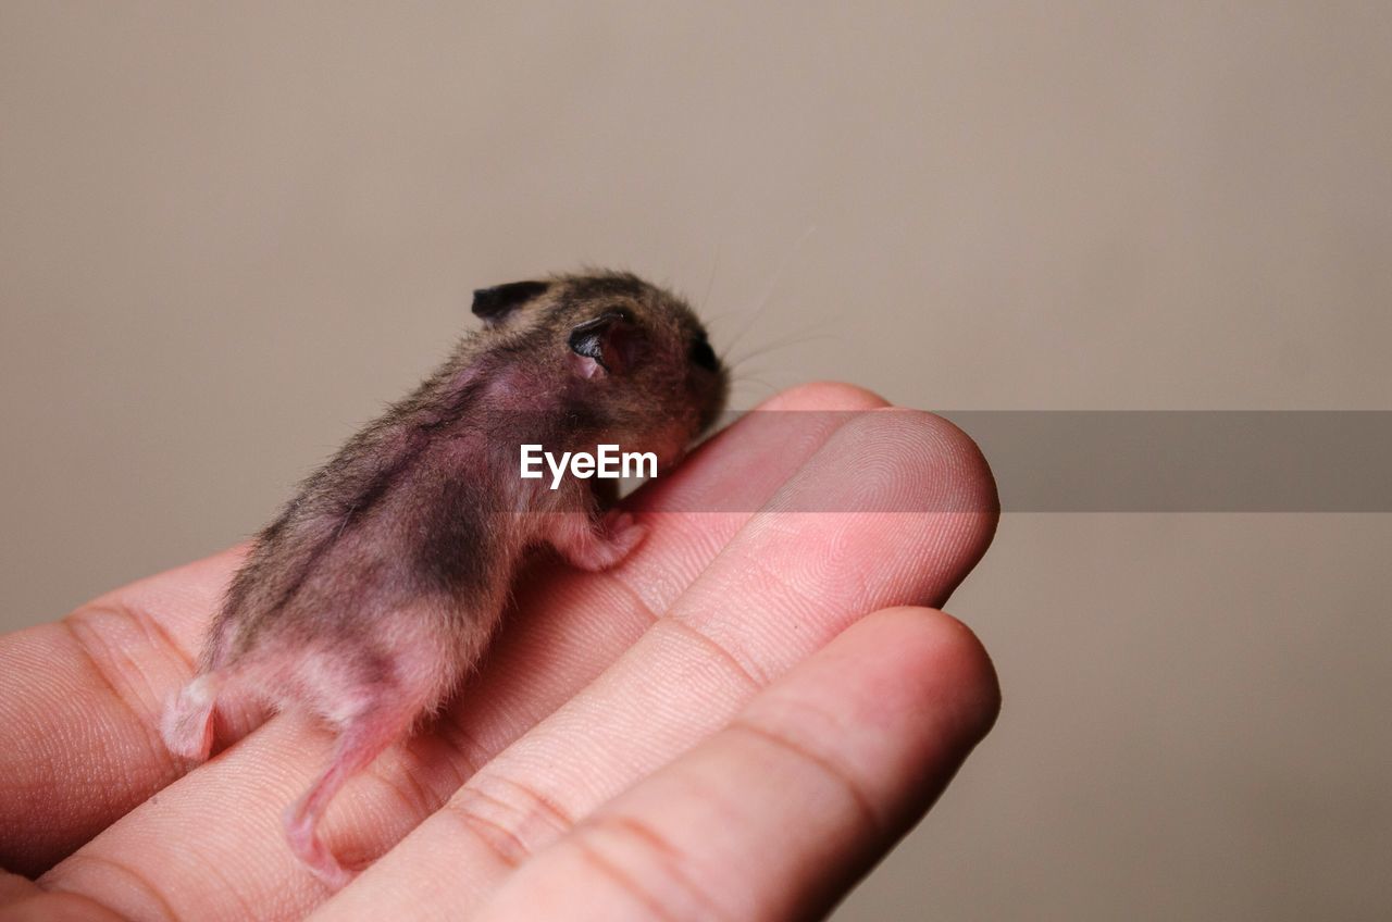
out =
[(367, 868), (331, 898), (280, 822), (326, 730), (220, 727), (182, 777), (160, 742), (242, 550), (3, 638), (0, 918), (828, 909), (998, 709), (970, 631), (906, 607), (942, 604), (986, 552), (990, 471), (949, 423), (881, 407), (842, 384), (775, 397), (867, 412), (746, 416), (633, 497), (650, 531), (615, 570), (533, 564), (455, 703), (334, 801), (320, 831)]

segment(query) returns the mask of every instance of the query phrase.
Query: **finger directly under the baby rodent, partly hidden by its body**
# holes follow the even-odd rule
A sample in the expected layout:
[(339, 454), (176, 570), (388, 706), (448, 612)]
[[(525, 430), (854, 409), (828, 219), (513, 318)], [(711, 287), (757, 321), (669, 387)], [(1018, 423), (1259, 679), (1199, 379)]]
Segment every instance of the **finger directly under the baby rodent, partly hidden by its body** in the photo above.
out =
[[(848, 411), (881, 404), (856, 389), (814, 386), (785, 394), (778, 405)], [(695, 510), (736, 489), (767, 497), (802, 462), (799, 453), (814, 451), (845, 418), (781, 414), (780, 422), (736, 423), (642, 499), (649, 513), (688, 511), (653, 515), (653, 536), (619, 571), (523, 579), (518, 613), (546, 616), (514, 618), (525, 621), (523, 630), (504, 632), (438, 731), (388, 752), (335, 799), (323, 827), (335, 852), (352, 861), (384, 851), (475, 766), (603, 671), (650, 624), (642, 599), (667, 604), (681, 591), (668, 574), (699, 571), (718, 552), (722, 535), (749, 518)], [(753, 501), (745, 504), (752, 507)], [(682, 535), (670, 538), (677, 524)], [(697, 529), (704, 533), (699, 540), (690, 536)], [(322, 731), (302, 721), (273, 721), (60, 864), (45, 884), (81, 893), (118, 889), (132, 894), (132, 903), (121, 907), (132, 915), (149, 911), (156, 894), (196, 918), (244, 915), (246, 907), (260, 915), (303, 912), (322, 890), (290, 857), (278, 816), (322, 767), (326, 752)], [(213, 875), (220, 882), (216, 889), (207, 886)]]

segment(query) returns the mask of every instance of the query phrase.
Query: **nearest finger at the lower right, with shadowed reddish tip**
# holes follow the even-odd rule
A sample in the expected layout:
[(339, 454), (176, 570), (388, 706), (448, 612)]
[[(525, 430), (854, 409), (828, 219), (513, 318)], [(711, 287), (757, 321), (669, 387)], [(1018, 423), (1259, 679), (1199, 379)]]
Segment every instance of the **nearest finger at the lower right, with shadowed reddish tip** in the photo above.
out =
[(820, 916), (942, 792), (999, 709), (937, 611), (878, 611), (528, 862), (480, 918)]

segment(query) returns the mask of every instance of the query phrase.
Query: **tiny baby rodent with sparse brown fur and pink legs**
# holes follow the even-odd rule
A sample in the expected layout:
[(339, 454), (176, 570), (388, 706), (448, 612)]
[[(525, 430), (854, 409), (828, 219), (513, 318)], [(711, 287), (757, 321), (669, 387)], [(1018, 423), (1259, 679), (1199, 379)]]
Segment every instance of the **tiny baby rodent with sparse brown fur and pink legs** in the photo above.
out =
[(692, 309), (617, 272), (473, 292), (482, 330), (348, 440), (256, 538), (198, 674), (170, 702), (170, 751), (206, 759), (214, 709), (259, 701), (337, 733), (285, 813), (290, 847), (337, 889), (315, 827), (355, 772), (438, 709), (477, 663), (523, 552), (603, 570), (643, 538), (593, 479), (521, 476), (521, 446), (653, 453), (665, 469), (720, 414), (727, 372)]

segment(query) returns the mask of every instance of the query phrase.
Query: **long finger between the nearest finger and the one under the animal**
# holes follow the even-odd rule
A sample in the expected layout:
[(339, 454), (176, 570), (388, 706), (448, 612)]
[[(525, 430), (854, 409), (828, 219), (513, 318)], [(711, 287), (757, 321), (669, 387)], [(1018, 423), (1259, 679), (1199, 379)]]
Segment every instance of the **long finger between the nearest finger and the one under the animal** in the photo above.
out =
[[(863, 451), (874, 453), (869, 487)], [(944, 421), (862, 415), (770, 507), (883, 508), (895, 497), (949, 511), (756, 517), (611, 669), (475, 773), (326, 914), (362, 914), (384, 890), (425, 894), (422, 911), (440, 918), (468, 914), (575, 818), (715, 731), (864, 611), (940, 604), (995, 522), (990, 471)]]

